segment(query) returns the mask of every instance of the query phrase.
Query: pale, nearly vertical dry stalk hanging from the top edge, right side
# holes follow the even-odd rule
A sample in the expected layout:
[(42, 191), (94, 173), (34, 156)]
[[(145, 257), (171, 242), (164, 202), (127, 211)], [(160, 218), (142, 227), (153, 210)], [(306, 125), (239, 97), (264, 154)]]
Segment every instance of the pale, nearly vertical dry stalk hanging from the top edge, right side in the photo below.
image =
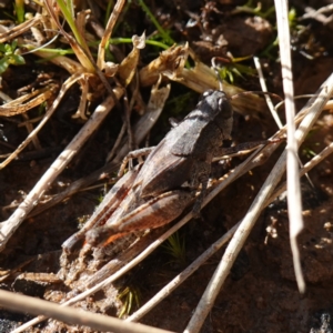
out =
[(287, 2), (275, 0), (276, 21), (279, 32), (279, 47), (282, 68), (283, 90), (285, 95), (285, 119), (287, 124), (287, 144), (286, 144), (286, 179), (287, 179), (287, 213), (290, 225), (290, 242), (293, 253), (293, 263), (299, 291), (305, 292), (305, 282), (301, 268), (300, 251), (296, 238), (304, 228), (302, 216), (301, 184), (299, 176), (299, 154), (297, 142), (295, 139), (295, 103), (294, 87), (292, 74), (292, 60), (290, 49), (290, 30), (287, 19)]

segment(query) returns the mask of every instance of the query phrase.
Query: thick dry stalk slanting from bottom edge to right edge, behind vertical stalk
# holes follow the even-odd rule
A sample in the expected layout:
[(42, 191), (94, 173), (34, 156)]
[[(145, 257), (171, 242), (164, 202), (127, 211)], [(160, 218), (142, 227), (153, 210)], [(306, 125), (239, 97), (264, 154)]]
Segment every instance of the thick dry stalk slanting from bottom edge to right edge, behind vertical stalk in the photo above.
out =
[[(333, 74), (322, 84), (317, 97), (311, 99), (307, 104), (303, 108), (307, 110), (307, 114), (304, 117), (303, 121), (301, 122), (295, 137), (297, 140), (297, 144), (301, 144), (305, 139), (305, 135), (309, 133), (311, 128), (313, 127), (314, 122), (316, 121), (317, 117), (321, 113), (321, 110), (330, 99), (333, 93)], [(311, 105), (311, 107), (309, 107)], [(208, 313), (210, 312), (211, 307), (214, 304), (214, 300), (223, 285), (229, 272), (242, 249), (250, 231), (252, 230), (255, 221), (264, 208), (264, 203), (266, 200), (272, 195), (274, 188), (279, 183), (281, 176), (285, 170), (285, 160), (286, 153), (284, 152), (279, 161), (276, 162), (275, 167), (273, 168), (271, 174), (266, 179), (265, 183), (263, 184), (261, 191), (256, 195), (255, 200), (253, 201), (251, 208), (249, 209), (248, 214), (244, 216), (243, 221), (241, 222), (239, 229), (236, 230), (234, 236), (232, 238), (230, 244), (228, 245), (223, 258), (211, 279), (211, 282), (206, 286), (204, 294), (201, 297), (200, 303), (193, 314), (188, 327), (184, 332), (199, 332), (201, 329)]]

